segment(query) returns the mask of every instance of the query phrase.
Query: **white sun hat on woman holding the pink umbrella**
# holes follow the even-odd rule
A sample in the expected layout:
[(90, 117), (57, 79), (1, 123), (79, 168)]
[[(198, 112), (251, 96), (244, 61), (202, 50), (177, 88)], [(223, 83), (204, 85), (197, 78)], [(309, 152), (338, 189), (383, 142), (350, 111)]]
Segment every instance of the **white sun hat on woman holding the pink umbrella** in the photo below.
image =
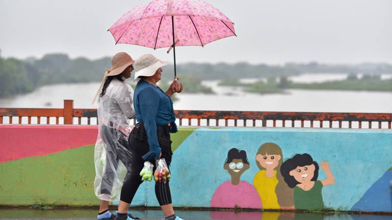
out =
[(162, 66), (168, 65), (167, 61), (160, 61), (152, 54), (145, 54), (135, 60), (133, 67), (135, 69), (135, 79), (133, 82), (140, 79), (140, 76), (152, 76), (156, 70)]

